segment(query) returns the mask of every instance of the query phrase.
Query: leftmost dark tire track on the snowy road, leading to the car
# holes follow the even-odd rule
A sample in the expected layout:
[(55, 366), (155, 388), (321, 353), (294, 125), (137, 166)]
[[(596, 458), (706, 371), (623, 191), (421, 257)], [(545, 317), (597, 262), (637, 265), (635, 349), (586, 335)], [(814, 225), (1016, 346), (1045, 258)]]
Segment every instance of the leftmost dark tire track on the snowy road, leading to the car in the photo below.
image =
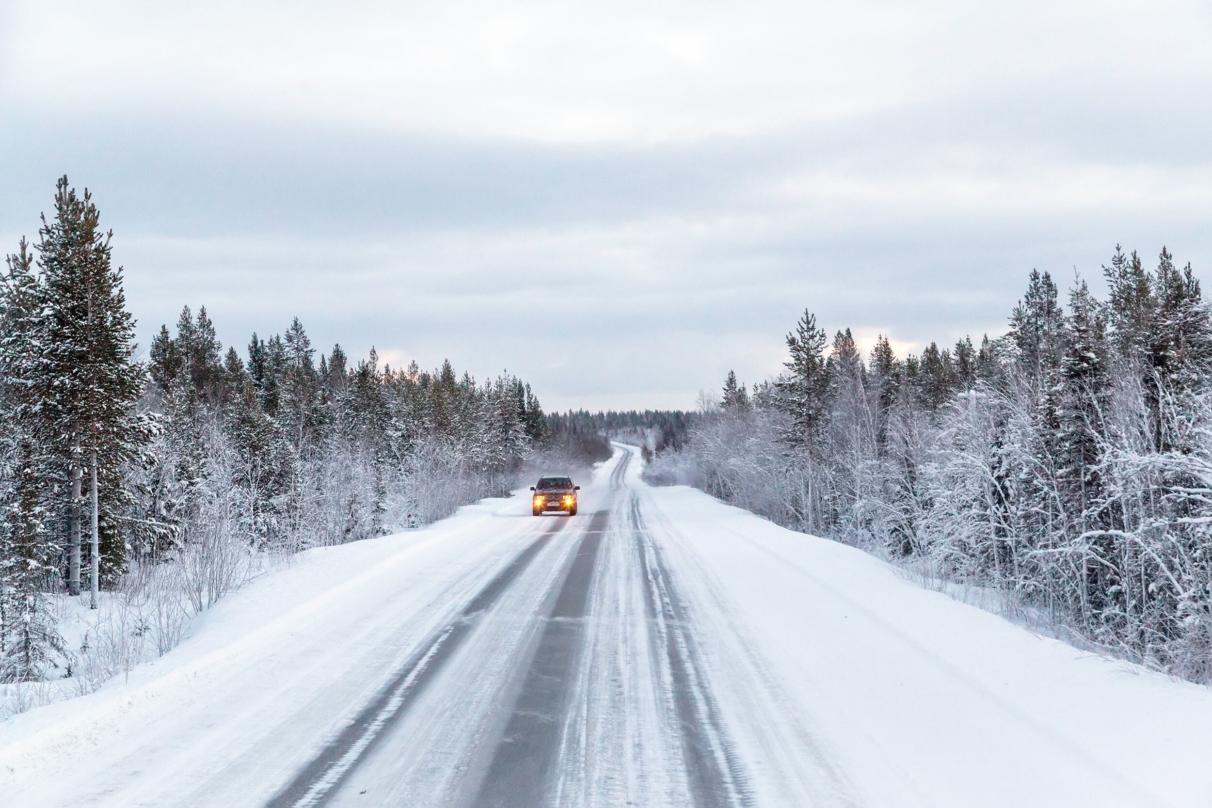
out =
[(560, 520), (514, 556), (514, 560), (459, 612), (458, 618), (431, 634), (393, 680), (371, 699), (358, 717), (311, 763), (267, 803), (267, 808), (307, 808), (324, 804), (360, 760), (399, 721), (408, 706), (438, 676), (479, 618), (497, 602), (538, 552), (568, 522)]

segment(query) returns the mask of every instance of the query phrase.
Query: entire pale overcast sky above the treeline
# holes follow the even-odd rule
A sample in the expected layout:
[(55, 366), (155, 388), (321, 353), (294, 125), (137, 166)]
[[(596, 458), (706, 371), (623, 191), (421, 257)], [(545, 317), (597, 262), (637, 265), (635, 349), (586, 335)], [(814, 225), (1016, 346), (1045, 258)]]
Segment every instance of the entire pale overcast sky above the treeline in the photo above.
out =
[(904, 353), (1116, 243), (1212, 279), (1207, 4), (183, 5), (0, 0), (0, 252), (87, 185), (143, 345), (688, 408), (806, 308)]

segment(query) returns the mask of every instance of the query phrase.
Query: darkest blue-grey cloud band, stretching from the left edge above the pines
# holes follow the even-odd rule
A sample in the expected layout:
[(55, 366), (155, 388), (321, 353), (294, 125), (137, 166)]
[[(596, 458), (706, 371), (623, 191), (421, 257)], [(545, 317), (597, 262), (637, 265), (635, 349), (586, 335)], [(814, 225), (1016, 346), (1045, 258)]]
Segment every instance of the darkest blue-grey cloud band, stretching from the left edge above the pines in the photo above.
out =
[[(6, 216), (69, 171), (137, 230), (178, 236), (394, 233), (633, 218), (720, 199), (726, 150), (438, 141), (258, 121), (8, 119)], [(15, 196), (27, 206), (18, 211)]]

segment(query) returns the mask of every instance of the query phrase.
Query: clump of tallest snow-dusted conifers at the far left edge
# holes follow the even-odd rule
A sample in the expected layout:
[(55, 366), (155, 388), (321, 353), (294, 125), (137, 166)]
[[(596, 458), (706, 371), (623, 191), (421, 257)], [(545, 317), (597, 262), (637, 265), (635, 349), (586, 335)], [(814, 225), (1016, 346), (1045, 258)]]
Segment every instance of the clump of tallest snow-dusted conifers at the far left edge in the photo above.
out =
[[(135, 412), (143, 388), (143, 372), (131, 362), (135, 323), (88, 191), (78, 196), (67, 177), (59, 179), (55, 216), (42, 217), (39, 236), (36, 262), (24, 240), (8, 258), (0, 321), (0, 503), (8, 517), (0, 550), (0, 611), (8, 619), (0, 648), (4, 676), (13, 680), (44, 675), (58, 649), (42, 588), (63, 566), (69, 589), (80, 591), (86, 470), (95, 606), (101, 578), (121, 573), (122, 475), (144, 437)], [(34, 644), (41, 651), (32, 652)]]

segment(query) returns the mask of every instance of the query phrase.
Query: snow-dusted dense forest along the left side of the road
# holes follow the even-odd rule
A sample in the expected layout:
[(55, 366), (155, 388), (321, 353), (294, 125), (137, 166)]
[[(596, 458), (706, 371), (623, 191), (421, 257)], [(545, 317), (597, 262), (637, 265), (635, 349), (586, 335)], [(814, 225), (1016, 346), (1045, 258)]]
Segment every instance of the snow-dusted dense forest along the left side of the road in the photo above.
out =
[(110, 234), (67, 178), (2, 281), (0, 682), (70, 667), (48, 594), (121, 592), (137, 614), (110, 638), (162, 653), (267, 558), (505, 494), (536, 448), (610, 453), (568, 445), (518, 378), (318, 353), (297, 319), (241, 356), (185, 308), (136, 362)]

